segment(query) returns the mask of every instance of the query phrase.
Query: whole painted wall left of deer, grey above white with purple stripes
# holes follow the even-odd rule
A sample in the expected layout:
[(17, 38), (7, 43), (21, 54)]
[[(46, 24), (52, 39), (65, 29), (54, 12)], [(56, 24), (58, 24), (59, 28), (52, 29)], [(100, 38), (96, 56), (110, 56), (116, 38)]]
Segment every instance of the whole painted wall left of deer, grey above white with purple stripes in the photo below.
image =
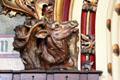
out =
[[(3, 6), (0, 0), (0, 70), (23, 70), (24, 65), (20, 59), (19, 52), (13, 50), (14, 28), (23, 24), (25, 16), (16, 14), (10, 18), (9, 14), (2, 14)], [(4, 12), (4, 11), (3, 11)]]

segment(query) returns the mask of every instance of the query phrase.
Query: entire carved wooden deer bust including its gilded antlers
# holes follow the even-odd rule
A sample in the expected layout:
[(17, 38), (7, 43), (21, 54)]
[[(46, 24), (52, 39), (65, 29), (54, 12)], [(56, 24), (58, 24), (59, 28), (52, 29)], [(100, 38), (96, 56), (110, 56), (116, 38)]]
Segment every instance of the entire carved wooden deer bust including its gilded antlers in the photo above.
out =
[[(20, 52), (25, 69), (76, 65), (78, 55), (70, 54), (77, 53), (77, 39), (72, 35), (78, 35), (78, 29), (75, 28), (78, 23), (53, 21), (54, 0), (2, 0), (2, 3), (7, 8), (29, 14), (27, 18), (30, 19), (14, 29), (13, 42), (14, 49)], [(75, 38), (71, 40), (72, 50), (68, 44), (70, 37)]]

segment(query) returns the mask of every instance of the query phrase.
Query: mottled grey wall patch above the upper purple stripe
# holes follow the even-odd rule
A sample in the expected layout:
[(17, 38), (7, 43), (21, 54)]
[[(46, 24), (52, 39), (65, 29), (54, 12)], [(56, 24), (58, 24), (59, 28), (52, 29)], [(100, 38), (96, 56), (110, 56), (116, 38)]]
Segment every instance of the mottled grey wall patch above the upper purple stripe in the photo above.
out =
[[(1, 0), (0, 0), (1, 3)], [(0, 11), (1, 11), (0, 5)], [(17, 25), (23, 24), (25, 21), (25, 16), (20, 16), (19, 14), (16, 17), (9, 18), (8, 15), (0, 15), (0, 34), (14, 34), (13, 29)]]

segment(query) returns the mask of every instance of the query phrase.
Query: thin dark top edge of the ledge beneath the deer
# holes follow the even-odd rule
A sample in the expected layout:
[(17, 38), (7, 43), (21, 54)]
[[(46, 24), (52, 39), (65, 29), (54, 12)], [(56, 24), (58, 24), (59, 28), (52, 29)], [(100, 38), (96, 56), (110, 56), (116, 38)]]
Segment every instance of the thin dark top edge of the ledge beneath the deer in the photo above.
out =
[(69, 74), (102, 74), (102, 71), (78, 71), (78, 70), (0, 70), (0, 73), (69, 73)]

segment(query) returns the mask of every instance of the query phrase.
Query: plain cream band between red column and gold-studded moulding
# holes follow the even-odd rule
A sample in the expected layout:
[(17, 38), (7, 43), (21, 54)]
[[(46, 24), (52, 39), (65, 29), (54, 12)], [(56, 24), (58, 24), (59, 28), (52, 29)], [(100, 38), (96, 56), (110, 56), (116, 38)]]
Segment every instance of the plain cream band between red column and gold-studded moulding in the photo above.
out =
[(96, 70), (102, 70), (100, 80), (108, 80), (107, 74), (107, 45), (106, 45), (106, 16), (109, 0), (99, 0), (96, 13)]

